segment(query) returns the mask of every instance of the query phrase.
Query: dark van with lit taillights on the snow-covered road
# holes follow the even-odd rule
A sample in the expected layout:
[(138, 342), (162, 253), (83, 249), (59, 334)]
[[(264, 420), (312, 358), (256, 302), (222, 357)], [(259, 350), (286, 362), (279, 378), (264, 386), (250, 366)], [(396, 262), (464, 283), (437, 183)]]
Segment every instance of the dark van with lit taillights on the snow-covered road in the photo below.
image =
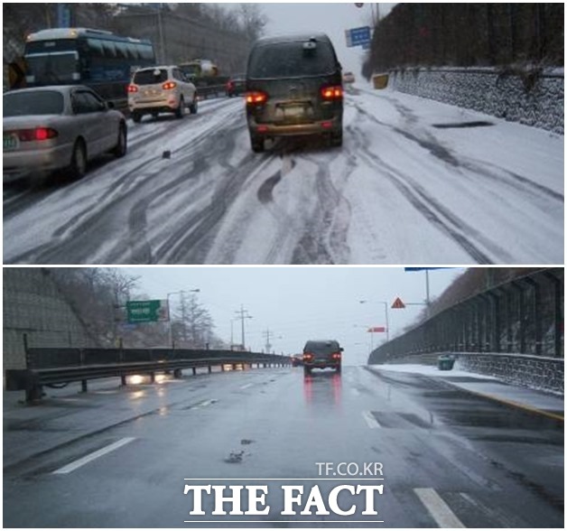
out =
[(256, 153), (277, 136), (322, 135), (342, 145), (341, 66), (327, 35), (256, 41), (246, 72), (246, 116)]

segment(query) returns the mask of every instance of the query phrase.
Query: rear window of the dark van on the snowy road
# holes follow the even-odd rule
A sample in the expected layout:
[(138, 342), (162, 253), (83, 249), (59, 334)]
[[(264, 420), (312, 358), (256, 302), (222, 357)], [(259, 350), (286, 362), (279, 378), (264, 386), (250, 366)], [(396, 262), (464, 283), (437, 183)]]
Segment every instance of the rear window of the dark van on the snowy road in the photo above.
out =
[(279, 42), (258, 46), (250, 55), (248, 77), (252, 79), (325, 76), (337, 70), (335, 54), (328, 42), (304, 49), (303, 42)]

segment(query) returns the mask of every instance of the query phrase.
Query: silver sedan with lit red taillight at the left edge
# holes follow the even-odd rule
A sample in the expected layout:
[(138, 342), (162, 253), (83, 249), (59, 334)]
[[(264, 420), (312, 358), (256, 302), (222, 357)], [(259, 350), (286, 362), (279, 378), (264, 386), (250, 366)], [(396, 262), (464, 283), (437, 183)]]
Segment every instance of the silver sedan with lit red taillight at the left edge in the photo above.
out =
[(88, 161), (126, 153), (125, 116), (87, 87), (4, 94), (4, 182), (63, 170), (79, 179)]

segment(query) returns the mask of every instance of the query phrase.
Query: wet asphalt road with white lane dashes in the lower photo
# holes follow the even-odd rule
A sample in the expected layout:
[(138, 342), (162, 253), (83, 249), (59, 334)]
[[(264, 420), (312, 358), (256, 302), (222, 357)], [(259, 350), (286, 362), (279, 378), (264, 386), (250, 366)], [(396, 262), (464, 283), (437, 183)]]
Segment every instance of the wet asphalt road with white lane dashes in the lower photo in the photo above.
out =
[[(436, 379), (255, 369), (56, 395), (5, 412), (4, 526), (563, 526), (562, 422)], [(270, 509), (213, 516), (206, 494), (191, 516), (199, 485), (265, 486)], [(304, 488), (295, 516), (283, 485)], [(346, 489), (352, 515), (314, 514), (362, 485), (383, 486), (376, 515)]]

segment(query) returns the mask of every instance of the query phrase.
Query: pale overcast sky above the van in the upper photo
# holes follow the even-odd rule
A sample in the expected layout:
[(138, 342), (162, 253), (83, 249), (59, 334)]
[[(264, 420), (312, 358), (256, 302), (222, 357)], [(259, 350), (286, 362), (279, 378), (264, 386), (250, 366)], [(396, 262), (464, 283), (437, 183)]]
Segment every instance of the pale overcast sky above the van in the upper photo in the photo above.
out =
[[(373, 13), (380, 16), (390, 12), (395, 4), (365, 4), (356, 7), (349, 3), (265, 3), (262, 2), (263, 12), (270, 22), (265, 28), (265, 34), (282, 34), (297, 32), (323, 32), (330, 36), (339, 61), (345, 71), (352, 71), (360, 77), (362, 63), (367, 52), (358, 48), (347, 48), (345, 31), (361, 26), (371, 25)], [(379, 6), (379, 9), (376, 9)]]

